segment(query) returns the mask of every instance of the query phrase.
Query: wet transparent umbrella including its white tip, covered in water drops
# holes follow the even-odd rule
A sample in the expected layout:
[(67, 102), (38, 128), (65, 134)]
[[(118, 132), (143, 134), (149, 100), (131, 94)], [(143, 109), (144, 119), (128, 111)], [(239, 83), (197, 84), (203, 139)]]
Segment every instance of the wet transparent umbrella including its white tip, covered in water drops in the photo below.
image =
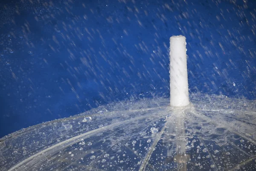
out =
[(108, 104), (0, 139), (1, 171), (254, 171), (256, 101), (188, 94), (170, 38), (170, 99)]

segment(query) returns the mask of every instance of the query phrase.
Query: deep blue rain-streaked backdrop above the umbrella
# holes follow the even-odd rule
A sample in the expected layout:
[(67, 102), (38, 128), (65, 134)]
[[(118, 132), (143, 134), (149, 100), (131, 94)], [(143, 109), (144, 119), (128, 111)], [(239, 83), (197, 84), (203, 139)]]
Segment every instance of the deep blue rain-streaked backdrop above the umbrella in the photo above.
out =
[(169, 38), (190, 92), (256, 99), (254, 0), (0, 2), (0, 137), (126, 99), (169, 96)]

